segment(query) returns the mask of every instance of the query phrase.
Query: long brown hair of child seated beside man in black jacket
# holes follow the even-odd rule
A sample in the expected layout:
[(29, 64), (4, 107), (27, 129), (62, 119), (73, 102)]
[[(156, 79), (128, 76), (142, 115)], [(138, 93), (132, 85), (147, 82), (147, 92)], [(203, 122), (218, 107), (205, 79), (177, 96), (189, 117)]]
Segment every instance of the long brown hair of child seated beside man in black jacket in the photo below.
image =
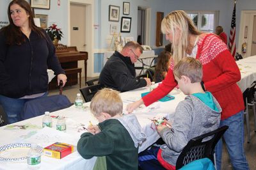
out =
[(154, 74), (154, 80), (156, 81), (157, 79), (163, 80), (163, 72), (168, 72), (168, 63), (171, 58), (171, 53), (168, 52), (167, 50), (163, 50), (159, 56), (157, 57), (157, 64), (155, 68), (155, 74)]

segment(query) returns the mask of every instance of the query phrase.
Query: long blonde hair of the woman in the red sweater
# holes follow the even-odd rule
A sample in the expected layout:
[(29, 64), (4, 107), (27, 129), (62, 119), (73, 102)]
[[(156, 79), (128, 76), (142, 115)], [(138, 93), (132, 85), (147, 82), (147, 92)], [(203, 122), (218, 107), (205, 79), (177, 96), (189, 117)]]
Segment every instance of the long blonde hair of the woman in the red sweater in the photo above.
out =
[(161, 31), (164, 34), (172, 33), (173, 40), (176, 40), (177, 30), (180, 31), (179, 43), (172, 42), (173, 61), (176, 65), (180, 59), (187, 56), (186, 49), (189, 45), (188, 35), (200, 35), (193, 24), (193, 21), (182, 10), (177, 10), (169, 13), (164, 17), (161, 23)]

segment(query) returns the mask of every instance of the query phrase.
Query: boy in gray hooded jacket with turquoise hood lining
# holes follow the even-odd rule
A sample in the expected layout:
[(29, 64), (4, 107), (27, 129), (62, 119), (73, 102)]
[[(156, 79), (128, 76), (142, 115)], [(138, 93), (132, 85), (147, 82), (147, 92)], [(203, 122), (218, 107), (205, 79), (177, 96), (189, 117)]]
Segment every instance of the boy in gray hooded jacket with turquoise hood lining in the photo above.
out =
[(183, 58), (175, 65), (173, 74), (181, 91), (188, 96), (177, 106), (173, 123), (165, 121), (167, 126), (156, 126), (165, 143), (160, 146), (156, 157), (166, 169), (175, 169), (177, 158), (190, 139), (219, 127), (222, 111), (212, 94), (202, 89), (200, 61)]

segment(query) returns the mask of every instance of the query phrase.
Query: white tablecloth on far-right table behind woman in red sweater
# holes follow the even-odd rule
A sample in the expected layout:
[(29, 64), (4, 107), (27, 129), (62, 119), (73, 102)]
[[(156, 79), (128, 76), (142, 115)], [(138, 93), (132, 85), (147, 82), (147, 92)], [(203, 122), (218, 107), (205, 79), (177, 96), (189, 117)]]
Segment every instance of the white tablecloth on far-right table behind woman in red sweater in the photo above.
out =
[(242, 92), (249, 88), (253, 81), (256, 81), (256, 56), (251, 56), (236, 61), (241, 72), (241, 81), (237, 82)]

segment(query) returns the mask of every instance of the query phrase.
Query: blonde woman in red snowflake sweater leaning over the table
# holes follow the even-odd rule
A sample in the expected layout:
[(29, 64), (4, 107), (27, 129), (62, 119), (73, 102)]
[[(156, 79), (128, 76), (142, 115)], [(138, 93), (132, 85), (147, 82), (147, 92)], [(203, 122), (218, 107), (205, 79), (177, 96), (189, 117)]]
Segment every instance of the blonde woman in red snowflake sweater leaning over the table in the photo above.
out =
[[(172, 91), (177, 82), (173, 76), (173, 67), (181, 58), (193, 57), (203, 65), (204, 88), (210, 91), (221, 105), (220, 126), (228, 125), (223, 135), (234, 169), (248, 169), (245, 158), (243, 128), (243, 95), (236, 82), (241, 73), (227, 49), (227, 45), (212, 33), (202, 33), (193, 25), (193, 21), (183, 11), (174, 11), (164, 17), (161, 28), (173, 45), (173, 61), (164, 81), (154, 91), (127, 106), (132, 112), (141, 104), (146, 106), (156, 102)], [(217, 169), (221, 169), (222, 141), (216, 146)]]

